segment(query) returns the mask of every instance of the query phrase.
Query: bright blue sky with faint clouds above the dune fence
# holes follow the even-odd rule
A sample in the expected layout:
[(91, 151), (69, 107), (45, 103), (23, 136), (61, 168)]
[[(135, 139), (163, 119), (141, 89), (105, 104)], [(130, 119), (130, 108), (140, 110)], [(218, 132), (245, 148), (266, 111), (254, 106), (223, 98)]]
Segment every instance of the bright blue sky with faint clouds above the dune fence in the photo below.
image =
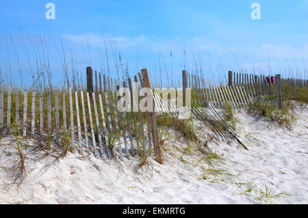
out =
[[(55, 20), (45, 18), (49, 2), (55, 4)], [(255, 2), (261, 5), (260, 20), (251, 19), (251, 4)], [(146, 67), (154, 82), (159, 82), (159, 71), (164, 77), (167, 71), (168, 80), (177, 80), (184, 68), (194, 71), (196, 59), (202, 73), (217, 74), (216, 80), (222, 80), (228, 70), (307, 73), (307, 0), (12, 0), (1, 2), (0, 25), (2, 80), (10, 80), (9, 71), (18, 78), (20, 66), (24, 84), (31, 81), (30, 71), (36, 74), (38, 47), (41, 56), (44, 50), (49, 57), (53, 81), (61, 82), (60, 37), (67, 60), (71, 49), (76, 58), (74, 68), (83, 74), (90, 63), (93, 69), (107, 71), (104, 37), (113, 77), (117, 76), (110, 41), (131, 75)], [(13, 83), (18, 84), (18, 80)]]

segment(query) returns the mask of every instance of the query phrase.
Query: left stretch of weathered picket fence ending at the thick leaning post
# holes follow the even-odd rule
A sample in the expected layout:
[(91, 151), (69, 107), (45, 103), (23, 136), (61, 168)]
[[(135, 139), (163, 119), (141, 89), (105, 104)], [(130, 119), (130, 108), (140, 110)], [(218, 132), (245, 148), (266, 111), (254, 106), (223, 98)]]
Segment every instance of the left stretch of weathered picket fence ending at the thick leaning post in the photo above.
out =
[[(146, 69), (142, 70), (142, 76), (140, 73), (138, 76), (139, 80), (137, 75), (133, 77), (139, 84), (138, 89), (150, 88)], [(66, 134), (70, 146), (81, 154), (118, 156), (120, 160), (124, 154), (128, 159), (136, 154), (151, 155), (154, 148), (155, 159), (162, 163), (155, 113), (120, 112), (116, 108), (119, 88), (129, 88), (131, 98), (133, 96), (131, 78), (126, 79), (116, 82), (103, 75), (102, 90), (100, 76), (100, 88), (96, 86), (92, 93), (73, 88), (25, 88), (21, 91), (0, 84), (0, 133), (38, 136), (42, 140), (52, 136), (55, 142), (61, 134)]]

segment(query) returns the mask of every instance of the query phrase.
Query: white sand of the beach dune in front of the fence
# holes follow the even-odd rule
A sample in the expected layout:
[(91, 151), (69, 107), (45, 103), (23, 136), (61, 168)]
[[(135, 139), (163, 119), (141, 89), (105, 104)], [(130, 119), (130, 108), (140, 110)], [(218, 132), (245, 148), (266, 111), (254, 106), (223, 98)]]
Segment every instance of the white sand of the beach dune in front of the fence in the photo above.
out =
[[(12, 138), (2, 138), (0, 203), (307, 204), (308, 110), (298, 107), (296, 113), (299, 119), (290, 131), (240, 112), (240, 134), (249, 151), (234, 142), (208, 143), (212, 152), (222, 157), (213, 159), (212, 167), (206, 161), (198, 162), (203, 156), (196, 145), (183, 154), (187, 142), (177, 136), (164, 144), (168, 149), (164, 165), (149, 158), (149, 165), (142, 168), (137, 157), (119, 164), (79, 154), (59, 160), (27, 154), (27, 176), (21, 184), (8, 184), (12, 182), (8, 169), (16, 163), (16, 154), (8, 149)], [(204, 137), (209, 133), (204, 127), (196, 129)], [(208, 169), (224, 171), (214, 175)], [(250, 186), (252, 191), (244, 194)], [(273, 191), (267, 197), (262, 193), (266, 186)]]

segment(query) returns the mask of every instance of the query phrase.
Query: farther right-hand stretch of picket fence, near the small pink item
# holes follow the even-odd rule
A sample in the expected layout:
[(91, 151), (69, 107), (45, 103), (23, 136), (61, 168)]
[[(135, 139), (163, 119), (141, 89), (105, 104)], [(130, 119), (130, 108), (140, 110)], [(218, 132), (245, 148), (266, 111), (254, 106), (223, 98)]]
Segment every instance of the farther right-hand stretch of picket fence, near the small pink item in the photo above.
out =
[(182, 75), (183, 87), (192, 89), (193, 106), (211, 103), (245, 108), (253, 101), (266, 101), (281, 108), (285, 100), (308, 102), (307, 80), (281, 78), (280, 74), (274, 75), (274, 82), (268, 82), (264, 75), (229, 71), (227, 84), (214, 84), (186, 71)]

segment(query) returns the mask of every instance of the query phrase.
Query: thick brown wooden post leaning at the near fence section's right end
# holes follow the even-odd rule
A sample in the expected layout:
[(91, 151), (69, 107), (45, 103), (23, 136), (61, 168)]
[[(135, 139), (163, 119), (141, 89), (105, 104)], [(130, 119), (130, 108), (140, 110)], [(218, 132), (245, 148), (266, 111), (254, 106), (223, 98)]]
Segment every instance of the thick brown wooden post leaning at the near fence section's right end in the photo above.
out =
[[(141, 73), (142, 73), (142, 79), (143, 79), (143, 82), (144, 82), (144, 87), (145, 88), (151, 88), (148, 70), (142, 69)], [(154, 142), (155, 160), (157, 162), (159, 162), (160, 164), (162, 164), (162, 153), (161, 153), (160, 147), (159, 147), (155, 113), (153, 112), (153, 108), (154, 108), (153, 94), (151, 93), (150, 95), (147, 95), (147, 99), (148, 99), (147, 102), (148, 102), (148, 110), (149, 110), (149, 120), (150, 120), (150, 125), (151, 125), (151, 128), (152, 128), (152, 137), (153, 137), (153, 142)], [(152, 108), (150, 108), (151, 105), (153, 106)]]

